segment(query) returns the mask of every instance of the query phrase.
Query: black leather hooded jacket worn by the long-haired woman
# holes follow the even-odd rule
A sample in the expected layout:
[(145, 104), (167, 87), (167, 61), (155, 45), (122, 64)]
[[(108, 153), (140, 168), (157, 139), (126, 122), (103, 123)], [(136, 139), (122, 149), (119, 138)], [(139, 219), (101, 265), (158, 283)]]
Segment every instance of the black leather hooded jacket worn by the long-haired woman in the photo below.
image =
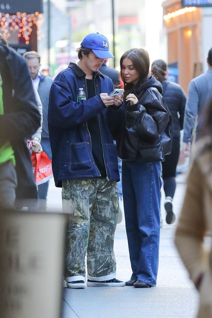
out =
[(138, 103), (125, 104), (125, 121), (117, 133), (117, 153), (123, 160), (164, 161), (171, 152), (172, 116), (161, 96), (162, 85), (153, 76), (146, 79)]

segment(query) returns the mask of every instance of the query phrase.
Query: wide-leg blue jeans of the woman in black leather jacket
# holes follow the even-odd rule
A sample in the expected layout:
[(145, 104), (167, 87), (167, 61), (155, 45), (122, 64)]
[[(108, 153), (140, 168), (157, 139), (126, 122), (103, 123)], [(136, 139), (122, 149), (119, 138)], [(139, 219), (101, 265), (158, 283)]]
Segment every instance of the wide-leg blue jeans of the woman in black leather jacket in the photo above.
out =
[(156, 286), (161, 163), (122, 161), (122, 190), (132, 279)]

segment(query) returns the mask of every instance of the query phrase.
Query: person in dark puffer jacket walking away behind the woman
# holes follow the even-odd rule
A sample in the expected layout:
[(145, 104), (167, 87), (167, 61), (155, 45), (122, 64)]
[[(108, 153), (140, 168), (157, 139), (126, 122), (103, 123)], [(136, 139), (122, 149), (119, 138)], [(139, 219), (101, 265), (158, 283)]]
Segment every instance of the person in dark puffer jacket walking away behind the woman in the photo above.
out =
[(169, 155), (165, 156), (165, 161), (162, 162), (163, 188), (166, 196), (164, 201), (166, 223), (172, 224), (175, 221), (172, 200), (176, 189), (175, 176), (180, 155), (180, 130), (183, 129), (186, 95), (180, 85), (166, 80), (167, 64), (162, 59), (152, 62), (152, 74), (162, 84), (162, 96), (173, 119), (172, 151)]

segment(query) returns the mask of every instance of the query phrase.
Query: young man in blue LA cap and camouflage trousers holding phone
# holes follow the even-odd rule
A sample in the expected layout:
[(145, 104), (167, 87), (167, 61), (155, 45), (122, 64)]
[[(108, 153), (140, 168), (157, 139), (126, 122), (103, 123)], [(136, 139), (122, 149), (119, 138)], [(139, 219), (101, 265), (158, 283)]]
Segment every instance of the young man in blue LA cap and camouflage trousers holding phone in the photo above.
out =
[[(113, 132), (124, 116), (121, 97), (109, 96), (113, 83), (98, 72), (114, 58), (107, 38), (88, 34), (70, 63), (53, 81), (48, 109), (49, 137), (56, 187), (62, 187), (63, 210), (70, 213), (66, 242), (69, 288), (123, 287), (116, 279), (113, 251), (119, 213), (119, 180)], [(77, 102), (79, 88), (86, 100)]]

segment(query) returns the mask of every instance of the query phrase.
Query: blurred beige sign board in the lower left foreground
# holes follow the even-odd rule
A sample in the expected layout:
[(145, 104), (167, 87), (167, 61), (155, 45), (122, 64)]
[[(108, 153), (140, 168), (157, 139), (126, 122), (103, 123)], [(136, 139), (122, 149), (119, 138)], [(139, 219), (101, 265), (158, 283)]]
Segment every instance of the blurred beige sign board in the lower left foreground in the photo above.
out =
[(65, 226), (63, 213), (1, 211), (0, 317), (61, 317)]

